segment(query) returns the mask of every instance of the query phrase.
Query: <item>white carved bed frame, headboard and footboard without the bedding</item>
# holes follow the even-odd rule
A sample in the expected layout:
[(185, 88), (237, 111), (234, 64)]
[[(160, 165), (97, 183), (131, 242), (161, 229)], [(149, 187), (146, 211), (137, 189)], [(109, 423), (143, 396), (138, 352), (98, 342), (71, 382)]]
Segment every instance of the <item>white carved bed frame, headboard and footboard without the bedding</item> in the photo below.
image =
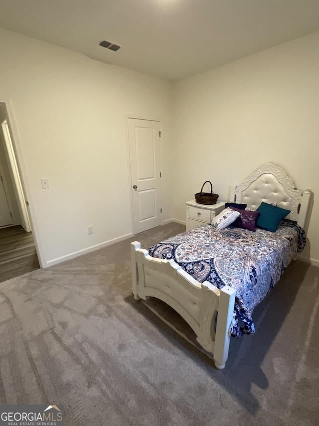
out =
[[(273, 163), (259, 166), (231, 192), (232, 201), (246, 203), (252, 210), (261, 201), (291, 210), (288, 218), (302, 228), (310, 196), (309, 189), (298, 191), (286, 172)], [(135, 299), (152, 296), (171, 306), (194, 330), (198, 343), (213, 353), (215, 366), (223, 369), (228, 358), (235, 290), (228, 286), (218, 290), (207, 281), (200, 284), (173, 260), (149, 256), (137, 241), (131, 243), (131, 256)]]

